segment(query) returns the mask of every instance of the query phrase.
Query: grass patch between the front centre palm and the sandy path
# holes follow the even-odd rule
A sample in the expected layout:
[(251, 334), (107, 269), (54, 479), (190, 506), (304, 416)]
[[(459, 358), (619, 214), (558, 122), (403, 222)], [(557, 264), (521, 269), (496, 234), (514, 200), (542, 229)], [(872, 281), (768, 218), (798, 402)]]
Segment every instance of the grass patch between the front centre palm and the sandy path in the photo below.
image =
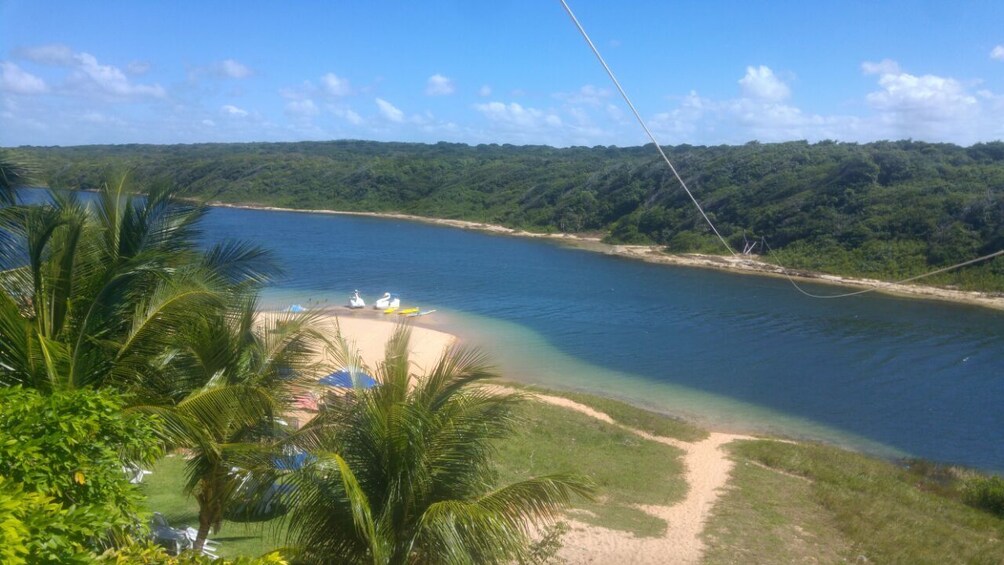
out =
[(503, 482), (579, 473), (596, 483), (599, 500), (576, 503), (572, 516), (577, 520), (639, 536), (665, 533), (665, 521), (633, 505), (672, 505), (683, 499), (682, 451), (567, 408), (527, 402), (520, 409), (522, 431), (499, 444)]

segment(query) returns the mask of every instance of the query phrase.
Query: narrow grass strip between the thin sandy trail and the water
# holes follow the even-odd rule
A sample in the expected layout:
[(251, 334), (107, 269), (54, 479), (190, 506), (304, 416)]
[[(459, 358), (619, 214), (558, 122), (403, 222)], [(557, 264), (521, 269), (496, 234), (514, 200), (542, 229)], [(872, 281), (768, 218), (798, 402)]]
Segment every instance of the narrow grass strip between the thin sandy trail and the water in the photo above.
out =
[(547, 388), (513, 382), (506, 382), (505, 385), (530, 392), (539, 392), (541, 394), (561, 396), (563, 398), (568, 398), (569, 400), (574, 400), (580, 404), (585, 404), (590, 408), (605, 413), (613, 418), (613, 421), (616, 421), (621, 426), (640, 430), (642, 432), (652, 434), (653, 436), (673, 438), (682, 442), (700, 442), (701, 440), (708, 439), (708, 432), (694, 426), (693, 423), (665, 413), (640, 408), (629, 404), (628, 402), (622, 402), (613, 398), (606, 398), (604, 396), (597, 396), (584, 392), (549, 390)]

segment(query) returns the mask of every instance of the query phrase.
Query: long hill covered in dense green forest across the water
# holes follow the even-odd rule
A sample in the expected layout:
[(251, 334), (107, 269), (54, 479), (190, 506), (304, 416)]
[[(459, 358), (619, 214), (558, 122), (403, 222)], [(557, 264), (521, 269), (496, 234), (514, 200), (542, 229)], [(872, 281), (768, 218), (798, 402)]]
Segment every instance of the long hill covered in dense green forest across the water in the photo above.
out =
[[(1004, 143), (668, 148), (722, 234), (792, 266), (902, 278), (1004, 248)], [(129, 171), (229, 203), (403, 212), (721, 253), (651, 147), (324, 142), (27, 148), (50, 186)], [(759, 251), (759, 248), (757, 249)], [(1004, 260), (935, 282), (1004, 290)]]

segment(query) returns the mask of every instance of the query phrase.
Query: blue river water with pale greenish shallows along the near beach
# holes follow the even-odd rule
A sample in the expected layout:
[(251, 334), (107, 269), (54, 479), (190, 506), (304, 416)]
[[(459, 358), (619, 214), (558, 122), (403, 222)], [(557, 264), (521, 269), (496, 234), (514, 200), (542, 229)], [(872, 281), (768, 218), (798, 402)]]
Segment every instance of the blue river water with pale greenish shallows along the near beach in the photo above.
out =
[[(214, 209), (207, 238), (272, 249), (266, 299), (385, 290), (488, 348), (506, 375), (736, 430), (1004, 471), (1004, 312), (651, 265), (374, 218)], [(818, 292), (834, 292), (819, 286)]]

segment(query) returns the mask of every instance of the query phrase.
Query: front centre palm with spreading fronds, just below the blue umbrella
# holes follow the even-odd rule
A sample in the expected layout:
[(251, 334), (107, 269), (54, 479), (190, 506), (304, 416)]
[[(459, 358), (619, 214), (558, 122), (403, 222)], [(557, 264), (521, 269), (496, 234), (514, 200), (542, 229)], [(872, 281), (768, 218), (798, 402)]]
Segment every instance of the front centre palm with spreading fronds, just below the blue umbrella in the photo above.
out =
[[(525, 558), (534, 526), (553, 520), (584, 479), (552, 475), (496, 486), (492, 458), (521, 397), (478, 384), (495, 376), (477, 350), (453, 347), (423, 378), (399, 326), (379, 385), (329, 402), (291, 441), (316, 458), (294, 487), (290, 541), (308, 562), (501, 563)], [(335, 358), (361, 366), (340, 336)]]

